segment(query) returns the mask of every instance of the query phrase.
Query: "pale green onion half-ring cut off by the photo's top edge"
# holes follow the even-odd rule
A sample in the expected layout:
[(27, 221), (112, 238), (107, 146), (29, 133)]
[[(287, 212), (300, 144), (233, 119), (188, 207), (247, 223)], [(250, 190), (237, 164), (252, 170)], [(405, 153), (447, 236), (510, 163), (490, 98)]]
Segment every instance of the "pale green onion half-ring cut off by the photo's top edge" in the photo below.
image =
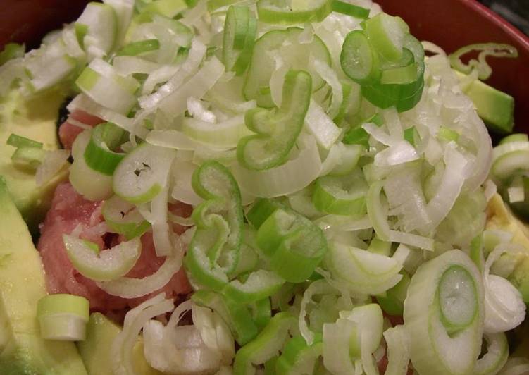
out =
[(298, 23), (320, 22), (331, 11), (332, 6), (329, 0), (292, 1), (290, 6), (286, 1), (257, 1), (259, 20), (265, 23), (295, 25)]

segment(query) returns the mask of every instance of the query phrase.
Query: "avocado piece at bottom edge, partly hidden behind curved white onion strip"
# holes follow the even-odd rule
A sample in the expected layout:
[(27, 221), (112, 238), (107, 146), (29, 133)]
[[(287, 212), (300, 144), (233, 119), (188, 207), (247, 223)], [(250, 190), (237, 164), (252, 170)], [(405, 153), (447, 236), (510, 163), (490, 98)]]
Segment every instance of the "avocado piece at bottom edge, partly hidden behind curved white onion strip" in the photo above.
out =
[[(90, 314), (87, 325), (87, 338), (77, 342), (82, 361), (88, 371), (88, 375), (113, 375), (111, 358), (111, 347), (114, 338), (118, 336), (121, 328), (100, 312)], [(137, 374), (158, 375), (156, 371), (147, 364), (143, 355), (143, 340), (138, 341), (133, 349), (134, 367)]]

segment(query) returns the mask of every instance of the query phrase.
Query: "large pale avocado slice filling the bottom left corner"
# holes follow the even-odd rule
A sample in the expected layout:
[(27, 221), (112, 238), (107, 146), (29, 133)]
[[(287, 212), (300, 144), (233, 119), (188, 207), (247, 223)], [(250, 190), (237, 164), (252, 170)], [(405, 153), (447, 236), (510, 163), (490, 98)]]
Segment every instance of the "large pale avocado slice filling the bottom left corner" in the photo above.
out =
[(0, 374), (86, 374), (73, 343), (40, 337), (37, 301), (46, 295), (44, 269), (1, 177), (0, 216)]

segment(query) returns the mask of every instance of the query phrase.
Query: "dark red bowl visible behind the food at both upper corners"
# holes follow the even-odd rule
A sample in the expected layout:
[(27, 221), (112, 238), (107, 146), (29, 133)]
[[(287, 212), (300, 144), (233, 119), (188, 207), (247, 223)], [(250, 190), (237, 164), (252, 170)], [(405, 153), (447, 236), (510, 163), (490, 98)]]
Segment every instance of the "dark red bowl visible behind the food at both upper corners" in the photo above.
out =
[[(0, 11), (0, 47), (25, 42), (36, 47), (39, 39), (62, 23), (75, 20), (86, 0), (4, 0)], [(466, 44), (499, 42), (514, 45), (518, 59), (490, 58), (494, 73), (490, 84), (516, 99), (517, 130), (529, 118), (529, 38), (504, 18), (476, 0), (378, 0), (391, 14), (404, 18), (411, 32), (452, 52)], [(526, 130), (525, 130), (526, 131)]]

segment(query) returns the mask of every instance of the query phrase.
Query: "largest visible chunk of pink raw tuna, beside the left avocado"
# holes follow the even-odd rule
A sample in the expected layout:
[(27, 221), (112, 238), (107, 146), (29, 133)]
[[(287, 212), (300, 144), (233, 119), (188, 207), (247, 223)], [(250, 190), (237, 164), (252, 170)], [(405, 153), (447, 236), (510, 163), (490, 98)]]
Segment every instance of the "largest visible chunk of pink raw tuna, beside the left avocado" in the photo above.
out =
[[(37, 245), (44, 263), (49, 293), (82, 295), (90, 301), (92, 311), (123, 317), (124, 309), (135, 307), (152, 295), (165, 292), (168, 297), (177, 297), (191, 291), (184, 271), (180, 270), (161, 290), (157, 290), (152, 295), (126, 300), (108, 295), (98, 288), (94, 281), (77, 272), (66, 254), (62, 240), (64, 233), (71, 233), (80, 224), (82, 226), (80, 237), (96, 242), (102, 249), (108, 248), (108, 245), (115, 245), (120, 240), (116, 235), (106, 232), (106, 223), (101, 216), (101, 205), (102, 202), (90, 202), (84, 199), (70, 183), (58, 185), (51, 202), (51, 209), (40, 227), (41, 237)], [(189, 207), (182, 204), (180, 210), (189, 212)], [(178, 232), (182, 231), (182, 227), (175, 229), (178, 229)], [(142, 236), (142, 255), (127, 276), (134, 278), (149, 276), (161, 266), (163, 260), (164, 258), (156, 257), (151, 233), (145, 233)]]

